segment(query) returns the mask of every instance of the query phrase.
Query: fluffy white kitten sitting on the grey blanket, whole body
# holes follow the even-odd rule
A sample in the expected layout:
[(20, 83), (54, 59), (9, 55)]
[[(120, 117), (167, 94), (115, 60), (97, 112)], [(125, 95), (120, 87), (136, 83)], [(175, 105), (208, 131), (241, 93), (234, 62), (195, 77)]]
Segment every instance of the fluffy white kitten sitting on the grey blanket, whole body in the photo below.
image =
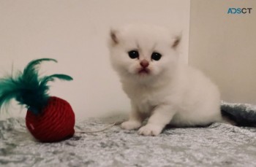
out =
[[(165, 125), (208, 125), (222, 121), (219, 90), (208, 77), (178, 61), (179, 38), (168, 29), (130, 25), (110, 32), (110, 60), (131, 100), (124, 129), (157, 136)], [(137, 50), (139, 58), (129, 58)], [(159, 61), (151, 58), (159, 53)], [(146, 62), (143, 68), (141, 62)], [(142, 70), (143, 69), (143, 70)], [(142, 126), (143, 120), (148, 123)]]

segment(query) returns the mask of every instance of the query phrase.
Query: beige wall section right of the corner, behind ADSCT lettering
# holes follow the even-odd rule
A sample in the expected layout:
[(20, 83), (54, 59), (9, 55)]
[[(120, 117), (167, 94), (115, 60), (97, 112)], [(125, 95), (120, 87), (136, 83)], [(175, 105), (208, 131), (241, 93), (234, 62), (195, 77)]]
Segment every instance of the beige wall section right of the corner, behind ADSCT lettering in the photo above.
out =
[(193, 0), (190, 20), (189, 64), (214, 79), (222, 100), (256, 104), (256, 1)]

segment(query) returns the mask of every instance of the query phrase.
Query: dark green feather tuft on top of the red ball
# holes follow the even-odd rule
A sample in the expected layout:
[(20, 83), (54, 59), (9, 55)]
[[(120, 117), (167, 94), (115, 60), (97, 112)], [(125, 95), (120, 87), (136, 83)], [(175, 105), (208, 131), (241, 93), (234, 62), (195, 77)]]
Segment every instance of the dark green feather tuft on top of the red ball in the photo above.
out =
[(10, 102), (12, 98), (24, 104), (34, 114), (39, 114), (42, 108), (47, 105), (48, 82), (55, 79), (72, 80), (65, 74), (53, 74), (50, 76), (39, 77), (39, 64), (42, 61), (54, 61), (52, 58), (42, 58), (31, 61), (23, 70), (18, 71), (16, 77), (4, 77), (0, 79), (0, 108)]

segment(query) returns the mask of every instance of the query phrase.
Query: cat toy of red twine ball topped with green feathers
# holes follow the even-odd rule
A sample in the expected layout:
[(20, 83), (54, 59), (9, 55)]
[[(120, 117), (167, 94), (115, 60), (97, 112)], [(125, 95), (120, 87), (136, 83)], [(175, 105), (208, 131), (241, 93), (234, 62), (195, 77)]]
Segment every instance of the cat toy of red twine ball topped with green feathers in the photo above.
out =
[(14, 98), (26, 106), (26, 127), (35, 139), (41, 142), (61, 141), (75, 133), (75, 114), (67, 101), (49, 96), (48, 82), (55, 79), (69, 81), (72, 77), (65, 74), (39, 77), (42, 61), (57, 62), (52, 58), (37, 59), (31, 61), (23, 72), (18, 71), (15, 77), (0, 79), (0, 108)]

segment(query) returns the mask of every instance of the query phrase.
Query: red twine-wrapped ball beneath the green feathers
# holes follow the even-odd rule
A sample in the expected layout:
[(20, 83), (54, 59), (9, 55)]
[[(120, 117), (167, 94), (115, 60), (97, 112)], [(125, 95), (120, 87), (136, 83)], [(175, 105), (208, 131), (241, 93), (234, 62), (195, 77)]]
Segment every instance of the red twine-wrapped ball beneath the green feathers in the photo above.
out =
[(26, 112), (26, 127), (35, 139), (53, 142), (67, 139), (75, 133), (75, 114), (67, 101), (50, 97), (42, 114)]

